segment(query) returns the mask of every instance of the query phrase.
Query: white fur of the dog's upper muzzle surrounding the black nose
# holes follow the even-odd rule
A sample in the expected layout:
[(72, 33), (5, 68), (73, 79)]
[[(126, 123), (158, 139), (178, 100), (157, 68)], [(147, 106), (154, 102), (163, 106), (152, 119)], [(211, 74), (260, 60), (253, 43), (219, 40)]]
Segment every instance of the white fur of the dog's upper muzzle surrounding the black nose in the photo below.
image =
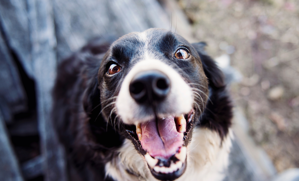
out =
[(169, 113), (178, 115), (188, 113), (192, 109), (192, 91), (179, 73), (160, 60), (146, 59), (138, 62), (130, 70), (121, 85), (116, 107), (118, 115), (124, 123), (135, 124), (137, 122), (146, 122), (154, 117), (154, 115), (145, 115), (144, 110), (135, 102), (129, 92), (129, 85), (133, 77), (137, 73), (147, 70), (158, 70), (169, 77), (171, 84), (170, 92), (164, 102), (161, 103), (169, 107), (167, 108)]

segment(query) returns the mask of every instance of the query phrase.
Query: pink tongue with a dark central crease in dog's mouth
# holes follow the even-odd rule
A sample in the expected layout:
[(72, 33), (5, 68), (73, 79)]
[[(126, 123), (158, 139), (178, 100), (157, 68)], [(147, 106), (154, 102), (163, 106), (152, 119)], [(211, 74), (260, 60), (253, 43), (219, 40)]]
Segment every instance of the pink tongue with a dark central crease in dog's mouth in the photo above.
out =
[(141, 130), (142, 148), (148, 151), (152, 157), (168, 159), (183, 145), (184, 134), (176, 131), (176, 123), (173, 116), (168, 116), (158, 121), (158, 130), (155, 119), (141, 123)]

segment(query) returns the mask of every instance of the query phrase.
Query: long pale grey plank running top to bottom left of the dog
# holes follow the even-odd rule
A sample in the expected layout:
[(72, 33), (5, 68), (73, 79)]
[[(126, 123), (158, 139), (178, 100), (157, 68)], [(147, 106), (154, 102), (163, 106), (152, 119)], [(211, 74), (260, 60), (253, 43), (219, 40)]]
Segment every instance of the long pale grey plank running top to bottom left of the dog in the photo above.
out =
[(65, 157), (52, 124), (52, 96), (56, 76), (56, 38), (49, 0), (28, 0), (33, 72), (36, 80), (39, 134), (45, 181), (66, 181)]

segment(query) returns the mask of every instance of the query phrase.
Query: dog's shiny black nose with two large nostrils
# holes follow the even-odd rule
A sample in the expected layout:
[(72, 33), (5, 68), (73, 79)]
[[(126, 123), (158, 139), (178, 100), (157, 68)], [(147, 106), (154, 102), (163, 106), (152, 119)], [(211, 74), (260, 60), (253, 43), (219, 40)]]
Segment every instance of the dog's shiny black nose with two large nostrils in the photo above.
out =
[(129, 91), (138, 103), (162, 101), (170, 91), (170, 80), (162, 72), (150, 70), (138, 73), (132, 79)]

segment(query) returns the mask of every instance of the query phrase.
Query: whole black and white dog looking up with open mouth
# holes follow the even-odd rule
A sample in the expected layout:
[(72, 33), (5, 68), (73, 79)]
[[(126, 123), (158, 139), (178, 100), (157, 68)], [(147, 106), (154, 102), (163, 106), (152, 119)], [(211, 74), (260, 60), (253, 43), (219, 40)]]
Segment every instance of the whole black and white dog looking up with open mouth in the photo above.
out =
[(204, 47), (153, 28), (64, 60), (53, 121), (69, 180), (222, 180), (232, 105)]

